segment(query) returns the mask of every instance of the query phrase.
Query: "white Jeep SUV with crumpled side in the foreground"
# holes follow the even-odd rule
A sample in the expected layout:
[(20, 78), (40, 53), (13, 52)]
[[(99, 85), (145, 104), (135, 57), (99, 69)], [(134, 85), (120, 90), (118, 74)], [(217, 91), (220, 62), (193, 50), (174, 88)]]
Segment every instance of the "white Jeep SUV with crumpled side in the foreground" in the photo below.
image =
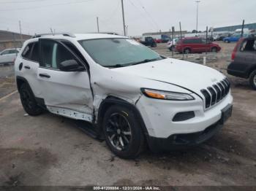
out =
[(232, 112), (227, 77), (113, 34), (44, 34), (23, 44), (15, 79), (25, 111), (91, 122), (119, 157), (206, 141)]

